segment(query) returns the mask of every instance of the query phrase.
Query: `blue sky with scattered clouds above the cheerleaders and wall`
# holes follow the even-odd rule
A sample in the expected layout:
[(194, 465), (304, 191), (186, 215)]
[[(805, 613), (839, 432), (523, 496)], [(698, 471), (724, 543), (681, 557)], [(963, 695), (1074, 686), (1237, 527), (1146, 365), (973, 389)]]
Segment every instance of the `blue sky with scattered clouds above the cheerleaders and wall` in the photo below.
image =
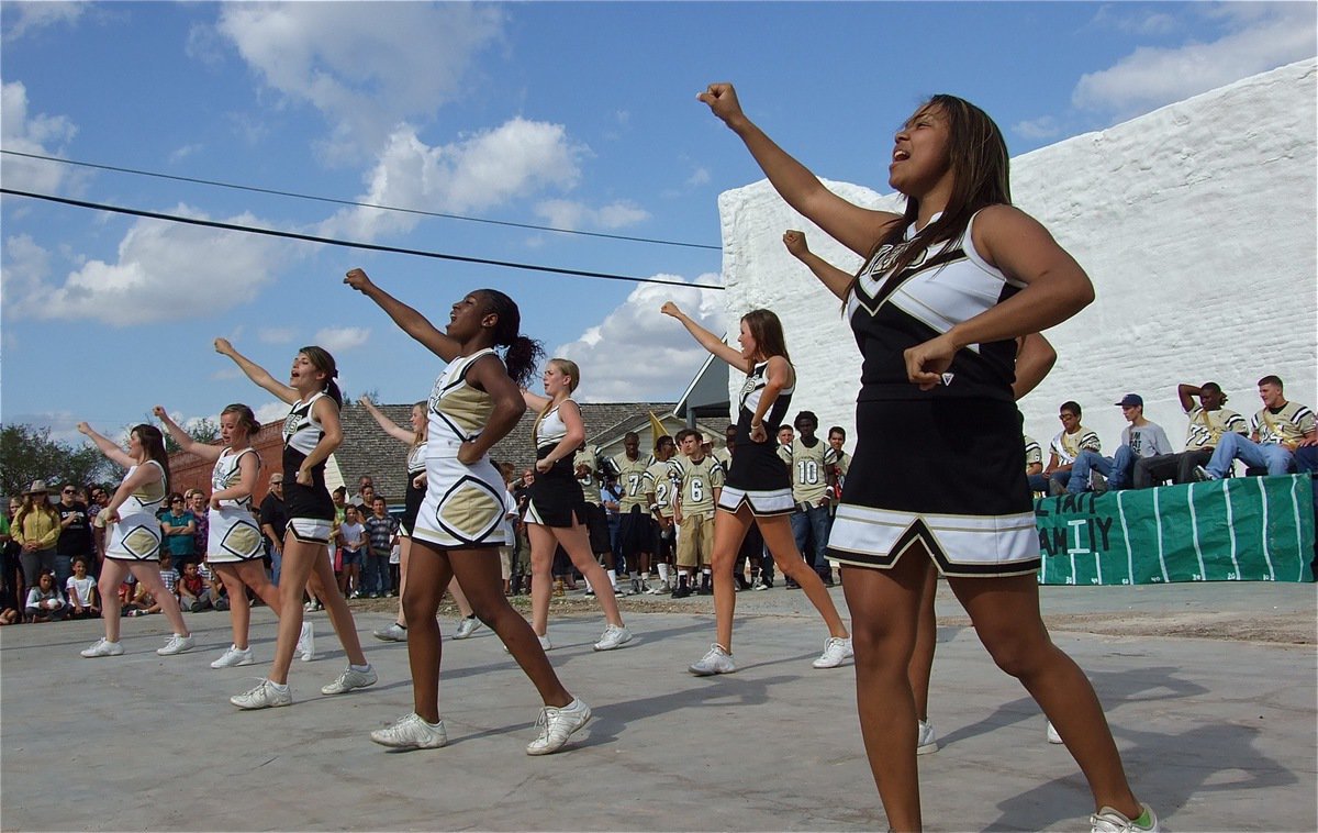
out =
[[(490, 220), (720, 243), (717, 196), (760, 178), (695, 99), (731, 80), (817, 174), (886, 192), (927, 95), (995, 117), (1012, 156), (1315, 51), (1315, 5), (1159, 3), (9, 3), (3, 148)], [(365, 268), (435, 320), (471, 289), (583, 365), (580, 395), (663, 399), (704, 359), (666, 298), (722, 327), (716, 249), (422, 217), (0, 157), (9, 188), (692, 286), (510, 272), (5, 196), (0, 419), (76, 436), (243, 401), (214, 353), (282, 376), (320, 343), (349, 393), (423, 398), (440, 369), (340, 282)]]

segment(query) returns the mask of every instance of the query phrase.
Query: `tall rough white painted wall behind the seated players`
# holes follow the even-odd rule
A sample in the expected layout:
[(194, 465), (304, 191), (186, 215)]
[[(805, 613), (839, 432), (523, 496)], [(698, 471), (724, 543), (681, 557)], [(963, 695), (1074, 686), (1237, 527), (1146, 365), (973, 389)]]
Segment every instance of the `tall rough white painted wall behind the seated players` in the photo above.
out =
[[(1255, 382), (1276, 373), (1286, 397), (1318, 409), (1318, 82), (1302, 61), (1012, 159), (1012, 198), (1086, 269), (1097, 301), (1046, 335), (1053, 372), (1021, 403), (1045, 444), (1057, 406), (1075, 399), (1111, 453), (1126, 422), (1112, 405), (1144, 397), (1145, 415), (1177, 447), (1185, 418), (1177, 382), (1217, 381), (1228, 407), (1259, 410)], [(898, 113), (900, 116), (900, 113)], [(809, 165), (809, 148), (788, 149)], [(875, 178), (887, 148), (876, 148)], [(899, 195), (828, 183), (858, 204), (900, 211)], [(811, 248), (854, 272), (859, 258), (787, 207), (767, 181), (718, 198), (729, 320), (768, 307), (797, 368), (792, 413), (847, 428), (861, 359), (840, 303), (782, 244), (805, 229)], [(735, 402), (739, 378), (729, 378)], [(1046, 459), (1045, 459), (1046, 461)]]

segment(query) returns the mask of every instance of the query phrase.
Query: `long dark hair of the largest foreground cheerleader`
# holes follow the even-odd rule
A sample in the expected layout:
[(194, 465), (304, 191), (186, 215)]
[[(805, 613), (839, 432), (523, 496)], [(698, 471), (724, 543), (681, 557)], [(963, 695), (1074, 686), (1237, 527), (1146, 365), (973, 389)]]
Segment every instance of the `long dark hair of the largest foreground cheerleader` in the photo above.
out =
[[(882, 273), (896, 274), (934, 244), (961, 237), (970, 224), (970, 217), (981, 208), (1011, 204), (1011, 163), (1007, 157), (1007, 142), (988, 113), (965, 99), (940, 94), (921, 104), (912, 120), (931, 109), (937, 109), (948, 120), (948, 165), (953, 171), (948, 206), (942, 210), (942, 215), (920, 229), (909, 244), (902, 245), (905, 241), (907, 228), (920, 216), (920, 200), (907, 195), (902, 221), (892, 223), (874, 244), (870, 257), (851, 278), (844, 298), (851, 294), (861, 273), (869, 268), (870, 261), (883, 246), (892, 246), (896, 257), (880, 266)], [(907, 121), (907, 125), (909, 124), (911, 121)], [(842, 304), (845, 308), (846, 301)]]

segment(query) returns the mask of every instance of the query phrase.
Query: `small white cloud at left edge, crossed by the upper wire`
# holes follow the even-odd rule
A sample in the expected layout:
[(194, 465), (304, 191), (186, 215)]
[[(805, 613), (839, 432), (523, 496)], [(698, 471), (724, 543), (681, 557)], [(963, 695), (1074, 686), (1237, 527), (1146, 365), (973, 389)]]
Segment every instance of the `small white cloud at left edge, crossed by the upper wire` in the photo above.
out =
[[(28, 88), (22, 82), (0, 87), (0, 145), (18, 153), (61, 156), (78, 128), (67, 116), (30, 115), (28, 109)], [(5, 187), (38, 194), (58, 194), (70, 181), (76, 181), (67, 165), (8, 154), (0, 158), (0, 174)]]

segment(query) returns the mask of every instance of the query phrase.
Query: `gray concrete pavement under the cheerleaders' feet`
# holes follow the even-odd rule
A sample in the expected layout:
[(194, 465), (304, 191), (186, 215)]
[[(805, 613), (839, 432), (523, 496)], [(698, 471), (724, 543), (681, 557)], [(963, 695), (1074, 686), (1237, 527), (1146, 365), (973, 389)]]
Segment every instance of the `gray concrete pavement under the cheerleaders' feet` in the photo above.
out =
[[(1318, 829), (1314, 585), (1043, 596), (1056, 641), (1098, 688), (1136, 792), (1166, 829)], [(841, 590), (834, 597), (842, 606)], [(712, 618), (699, 613), (708, 600), (664, 613), (646, 610), (672, 605), (625, 601), (637, 641), (610, 654), (590, 650), (598, 613), (554, 618), (550, 658), (596, 718), (546, 758), (523, 753), (534, 689), (485, 629), (444, 642), (449, 746), (390, 753), (366, 734), (411, 710), (411, 685), (406, 645), (369, 637), (389, 622), (385, 612), (357, 613), (377, 685), (320, 696), (344, 656), (318, 613), (320, 659), (294, 663), (293, 706), (252, 713), (228, 696), (269, 662), (274, 618), (264, 608), (252, 631), (261, 664), (223, 671), (210, 660), (229, 643), (225, 614), (190, 616), (198, 648), (173, 658), (154, 652), (167, 634), (162, 617), (125, 619), (125, 655), (98, 660), (78, 651), (100, 622), (5, 627), (0, 828), (886, 829), (854, 674), (809, 667), (826, 634), (804, 604), (788, 590), (739, 594), (739, 671), (712, 679), (685, 672), (713, 638)], [(1064, 747), (1045, 743), (1037, 706), (992, 666), (945, 588), (938, 610), (931, 717), (942, 747), (920, 759), (927, 826), (1087, 829), (1083, 779)], [(1285, 621), (1285, 633), (1307, 622), (1309, 641), (1159, 635), (1186, 610), (1219, 623)], [(1161, 625), (1124, 635), (1065, 626), (1140, 616)], [(451, 619), (443, 626), (452, 631)]]

